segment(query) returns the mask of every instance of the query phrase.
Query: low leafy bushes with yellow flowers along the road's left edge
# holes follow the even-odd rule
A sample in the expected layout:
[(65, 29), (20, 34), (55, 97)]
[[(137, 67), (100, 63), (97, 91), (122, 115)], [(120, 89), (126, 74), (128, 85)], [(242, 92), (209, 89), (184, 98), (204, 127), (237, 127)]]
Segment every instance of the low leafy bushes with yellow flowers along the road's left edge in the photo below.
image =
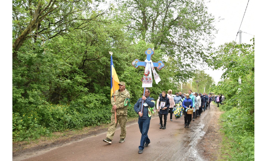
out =
[[(88, 94), (70, 105), (44, 104), (25, 113), (13, 112), (13, 141), (36, 139), (54, 131), (110, 123), (111, 105), (103, 94)], [(26, 110), (25, 110), (26, 111)], [(133, 105), (128, 117), (136, 117)]]

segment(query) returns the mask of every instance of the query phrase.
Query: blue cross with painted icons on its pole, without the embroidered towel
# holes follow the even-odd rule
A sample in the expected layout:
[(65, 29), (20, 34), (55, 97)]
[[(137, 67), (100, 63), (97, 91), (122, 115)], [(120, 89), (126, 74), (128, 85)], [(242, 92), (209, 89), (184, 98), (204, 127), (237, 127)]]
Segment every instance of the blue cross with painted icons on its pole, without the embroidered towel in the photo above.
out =
[[(150, 60), (151, 60), (151, 56), (154, 54), (154, 51), (153, 51), (151, 48), (148, 48), (148, 49), (145, 51), (145, 54), (147, 55), (146, 59), (147, 59), (148, 61), (150, 61)], [(159, 60), (158, 62), (152, 62), (152, 63), (153, 63), (153, 65), (154, 65), (154, 67), (156, 67), (158, 70), (161, 70), (161, 69), (165, 66), (165, 64), (164, 64), (161, 60)], [(133, 65), (133, 67), (135, 67), (135, 68), (138, 68), (138, 67), (140, 67), (140, 66), (142, 66), (142, 67), (146, 67), (146, 64), (147, 64), (146, 62), (144, 62), (144, 61), (139, 61), (139, 59), (135, 59), (135, 60), (132, 62), (132, 65)], [(141, 81), (143, 82), (143, 77), (142, 77)], [(145, 92), (146, 92), (146, 87), (144, 87), (143, 96), (145, 96)], [(144, 104), (144, 100), (142, 101), (141, 113), (143, 113), (143, 104)]]

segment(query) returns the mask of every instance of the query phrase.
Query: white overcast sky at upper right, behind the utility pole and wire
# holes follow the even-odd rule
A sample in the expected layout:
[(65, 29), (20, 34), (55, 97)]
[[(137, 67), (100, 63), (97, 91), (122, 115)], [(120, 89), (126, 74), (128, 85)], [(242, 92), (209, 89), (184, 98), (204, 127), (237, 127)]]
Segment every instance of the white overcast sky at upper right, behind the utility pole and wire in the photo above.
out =
[[(239, 34), (237, 35), (239, 30), (242, 31), (241, 42), (252, 44), (250, 39), (255, 35), (255, 1), (207, 0), (205, 2), (208, 7), (208, 13), (215, 17), (216, 22), (214, 25), (218, 30), (218, 33), (215, 34), (216, 38), (213, 47), (218, 47), (231, 41), (239, 43)], [(218, 22), (219, 19), (223, 20)], [(215, 84), (218, 83), (223, 73), (222, 70), (213, 71), (212, 69), (205, 70), (205, 72), (213, 77)]]

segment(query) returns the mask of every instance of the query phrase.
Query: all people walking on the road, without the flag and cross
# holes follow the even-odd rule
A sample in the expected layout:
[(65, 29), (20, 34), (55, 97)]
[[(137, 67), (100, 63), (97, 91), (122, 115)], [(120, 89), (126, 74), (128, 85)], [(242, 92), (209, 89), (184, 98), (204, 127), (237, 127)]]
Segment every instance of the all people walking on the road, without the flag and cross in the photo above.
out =
[[(103, 139), (104, 142), (111, 144), (117, 124), (120, 124), (121, 134), (119, 143), (123, 143), (126, 137), (126, 122), (127, 122), (127, 107), (130, 104), (130, 93), (125, 88), (125, 82), (120, 82), (119, 90), (111, 96), (111, 124), (108, 128), (107, 137)], [(201, 113), (210, 108), (210, 102), (214, 101), (222, 104), (224, 96), (208, 95), (207, 93), (194, 93), (191, 89), (188, 93), (176, 92), (175, 97), (172, 96), (172, 90), (167, 92), (162, 91), (159, 94), (158, 100), (150, 97), (150, 89), (144, 88), (144, 95), (137, 100), (133, 109), (139, 115), (138, 125), (141, 133), (140, 146), (138, 147), (138, 154), (142, 154), (145, 147), (150, 144), (148, 138), (148, 129), (152, 113), (158, 112), (159, 129), (166, 129), (167, 117), (170, 113), (170, 120), (172, 121), (173, 114), (175, 119), (184, 116), (184, 127), (189, 128), (191, 121), (195, 121), (201, 117)]]

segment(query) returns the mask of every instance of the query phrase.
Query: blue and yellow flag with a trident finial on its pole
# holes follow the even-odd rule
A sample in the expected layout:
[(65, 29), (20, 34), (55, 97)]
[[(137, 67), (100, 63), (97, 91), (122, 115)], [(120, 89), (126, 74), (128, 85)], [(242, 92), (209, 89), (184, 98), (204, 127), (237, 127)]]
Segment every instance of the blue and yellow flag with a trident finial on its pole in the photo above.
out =
[(117, 76), (117, 73), (115, 71), (113, 60), (112, 60), (112, 52), (109, 52), (111, 54), (111, 60), (110, 60), (110, 80), (111, 80), (111, 90), (110, 90), (110, 98), (112, 97), (113, 91), (116, 91), (119, 89), (119, 78)]

